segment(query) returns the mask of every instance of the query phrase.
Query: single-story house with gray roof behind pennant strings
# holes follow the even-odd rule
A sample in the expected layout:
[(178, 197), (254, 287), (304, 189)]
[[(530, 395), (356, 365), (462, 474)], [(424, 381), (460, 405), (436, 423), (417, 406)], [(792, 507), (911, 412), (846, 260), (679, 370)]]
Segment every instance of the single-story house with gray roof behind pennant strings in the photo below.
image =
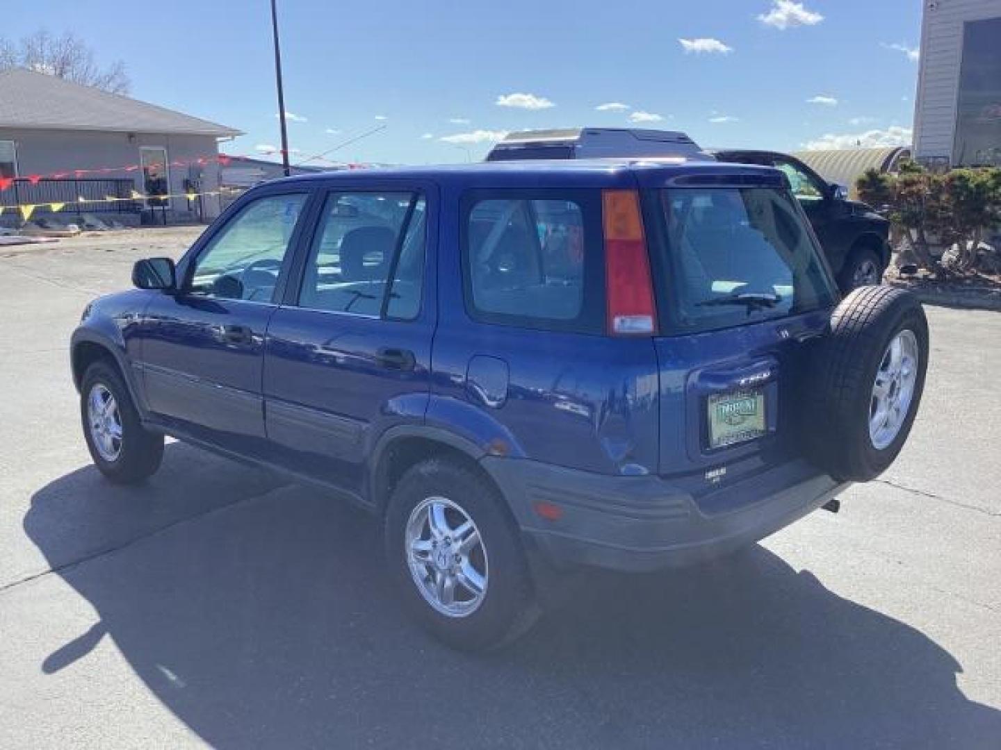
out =
[[(146, 220), (154, 214), (161, 220), (165, 208), (168, 219), (199, 213), (211, 219), (219, 213), (217, 195), (200, 203), (184, 197), (120, 205), (98, 199), (109, 190), (113, 197), (133, 198), (132, 190), (171, 196), (217, 191), (219, 141), (237, 135), (241, 131), (225, 125), (54, 76), (21, 68), (3, 71), (0, 206), (83, 197), (94, 199), (82, 204), (91, 213), (142, 211)], [(12, 177), (21, 179), (4, 179)], [(76, 208), (68, 203), (62, 210)]]

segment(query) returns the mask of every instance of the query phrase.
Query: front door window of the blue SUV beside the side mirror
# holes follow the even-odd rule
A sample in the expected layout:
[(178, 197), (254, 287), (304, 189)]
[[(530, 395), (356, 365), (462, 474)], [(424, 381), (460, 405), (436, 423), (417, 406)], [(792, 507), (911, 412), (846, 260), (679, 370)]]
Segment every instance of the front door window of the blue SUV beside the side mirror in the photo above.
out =
[(271, 302), (305, 202), (305, 193), (289, 193), (245, 205), (195, 260), (188, 291), (222, 299)]

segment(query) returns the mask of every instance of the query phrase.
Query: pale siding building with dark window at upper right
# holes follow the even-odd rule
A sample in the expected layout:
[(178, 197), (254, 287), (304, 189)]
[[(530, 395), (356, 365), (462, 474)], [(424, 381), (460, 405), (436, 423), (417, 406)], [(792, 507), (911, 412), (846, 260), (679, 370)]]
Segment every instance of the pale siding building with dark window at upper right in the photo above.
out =
[(923, 0), (914, 152), (1001, 165), (1001, 0)]

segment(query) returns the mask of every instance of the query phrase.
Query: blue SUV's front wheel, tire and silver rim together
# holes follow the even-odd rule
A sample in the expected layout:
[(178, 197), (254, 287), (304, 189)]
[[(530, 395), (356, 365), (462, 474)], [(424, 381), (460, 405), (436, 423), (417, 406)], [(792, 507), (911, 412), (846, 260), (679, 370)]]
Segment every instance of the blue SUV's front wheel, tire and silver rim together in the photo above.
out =
[(109, 362), (94, 362), (84, 373), (80, 418), (90, 457), (110, 481), (137, 484), (160, 467), (163, 435), (142, 426), (128, 388)]

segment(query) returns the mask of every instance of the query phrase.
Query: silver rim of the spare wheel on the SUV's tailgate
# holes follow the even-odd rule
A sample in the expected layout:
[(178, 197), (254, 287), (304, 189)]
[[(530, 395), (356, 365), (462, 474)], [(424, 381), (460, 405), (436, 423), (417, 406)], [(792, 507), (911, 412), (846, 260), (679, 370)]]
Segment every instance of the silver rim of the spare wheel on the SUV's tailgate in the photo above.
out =
[(883, 352), (869, 403), (869, 439), (887, 448), (904, 426), (918, 380), (918, 339), (909, 329), (894, 336)]

